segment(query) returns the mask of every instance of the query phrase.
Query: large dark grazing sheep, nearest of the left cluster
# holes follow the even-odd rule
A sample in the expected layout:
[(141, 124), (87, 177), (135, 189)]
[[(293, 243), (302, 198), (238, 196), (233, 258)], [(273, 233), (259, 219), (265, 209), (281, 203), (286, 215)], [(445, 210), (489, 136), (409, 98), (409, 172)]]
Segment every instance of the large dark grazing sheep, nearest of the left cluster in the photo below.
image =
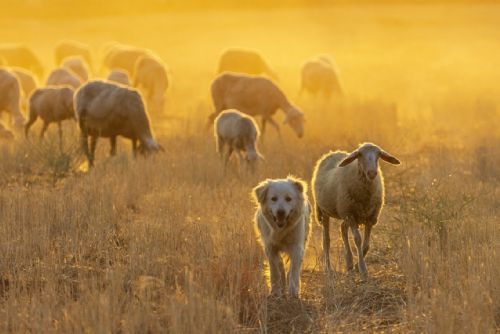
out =
[(89, 81), (76, 91), (74, 103), (89, 166), (94, 165), (98, 137), (110, 139), (111, 155), (116, 154), (117, 136), (132, 140), (134, 156), (137, 140), (141, 153), (163, 150), (153, 137), (148, 114), (137, 90), (111, 82)]

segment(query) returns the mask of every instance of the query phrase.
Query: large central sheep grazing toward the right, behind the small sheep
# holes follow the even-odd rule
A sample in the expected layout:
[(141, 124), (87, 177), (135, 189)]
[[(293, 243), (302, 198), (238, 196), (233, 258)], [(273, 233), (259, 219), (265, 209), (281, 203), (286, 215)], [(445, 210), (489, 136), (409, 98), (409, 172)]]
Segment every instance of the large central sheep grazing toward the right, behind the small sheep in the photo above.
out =
[(272, 119), (279, 108), (285, 112), (284, 123), (290, 125), (299, 138), (304, 135), (304, 114), (265, 77), (223, 73), (212, 82), (211, 92), (215, 112), (209, 116), (210, 124), (222, 110), (234, 108), (250, 116), (260, 115), (262, 134), (267, 122), (280, 133), (279, 125)]

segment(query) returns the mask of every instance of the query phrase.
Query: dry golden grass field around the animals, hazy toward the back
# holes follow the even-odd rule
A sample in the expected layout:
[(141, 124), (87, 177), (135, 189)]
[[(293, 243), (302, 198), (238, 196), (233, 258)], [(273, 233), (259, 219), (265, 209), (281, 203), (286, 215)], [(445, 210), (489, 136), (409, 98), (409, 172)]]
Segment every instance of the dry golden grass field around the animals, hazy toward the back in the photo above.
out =
[[(70, 121), (63, 151), (55, 127), (43, 142), (0, 143), (0, 332), (498, 332), (499, 15), (485, 4), (2, 18), (0, 42), (30, 46), (47, 71), (60, 39), (91, 45), (96, 71), (120, 41), (157, 52), (172, 85), (152, 115), (163, 154), (133, 159), (120, 141), (109, 158), (101, 139), (87, 170)], [(269, 128), (258, 171), (234, 161), (224, 176), (205, 122), (232, 46), (264, 55), (307, 123), (302, 139)], [(299, 100), (300, 67), (319, 53), (346, 94)], [(369, 279), (345, 272), (338, 221), (325, 275), (314, 222), (301, 299), (268, 298), (252, 187), (310, 182), (322, 154), (364, 141), (402, 161), (382, 164)]]

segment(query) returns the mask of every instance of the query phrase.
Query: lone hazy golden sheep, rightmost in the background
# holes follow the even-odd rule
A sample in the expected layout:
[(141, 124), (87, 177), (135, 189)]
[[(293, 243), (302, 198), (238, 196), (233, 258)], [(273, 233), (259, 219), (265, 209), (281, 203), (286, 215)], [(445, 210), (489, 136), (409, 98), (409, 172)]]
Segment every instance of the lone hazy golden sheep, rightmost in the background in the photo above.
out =
[(302, 66), (302, 79), (299, 95), (309, 92), (322, 93), (326, 98), (332, 94), (342, 94), (338, 71), (328, 56), (320, 55), (310, 59)]

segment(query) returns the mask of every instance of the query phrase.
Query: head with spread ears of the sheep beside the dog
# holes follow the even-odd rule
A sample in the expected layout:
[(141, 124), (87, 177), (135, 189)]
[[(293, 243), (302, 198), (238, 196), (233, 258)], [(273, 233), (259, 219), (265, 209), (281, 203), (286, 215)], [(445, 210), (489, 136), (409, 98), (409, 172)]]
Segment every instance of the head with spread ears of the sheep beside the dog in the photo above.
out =
[(373, 181), (378, 175), (378, 159), (382, 159), (393, 165), (399, 165), (401, 162), (394, 156), (382, 150), (375, 144), (364, 143), (357, 150), (349, 154), (339, 164), (339, 167), (349, 165), (354, 160), (358, 160), (360, 173), (368, 181)]

